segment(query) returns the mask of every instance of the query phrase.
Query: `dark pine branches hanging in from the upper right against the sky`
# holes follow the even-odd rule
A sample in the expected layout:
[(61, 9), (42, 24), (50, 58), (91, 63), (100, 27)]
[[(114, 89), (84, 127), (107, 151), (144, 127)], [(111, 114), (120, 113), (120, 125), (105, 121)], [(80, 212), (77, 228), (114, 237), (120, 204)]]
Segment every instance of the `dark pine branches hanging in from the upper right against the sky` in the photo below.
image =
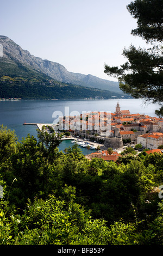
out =
[(104, 72), (115, 76), (120, 82), (124, 93), (135, 98), (158, 103), (160, 109), (155, 113), (163, 115), (163, 2), (162, 0), (136, 0), (131, 2), (127, 9), (137, 20), (137, 28), (131, 34), (141, 36), (152, 44), (147, 50), (133, 45), (127, 50), (124, 48), (123, 56), (128, 59), (126, 63), (118, 66), (105, 64)]

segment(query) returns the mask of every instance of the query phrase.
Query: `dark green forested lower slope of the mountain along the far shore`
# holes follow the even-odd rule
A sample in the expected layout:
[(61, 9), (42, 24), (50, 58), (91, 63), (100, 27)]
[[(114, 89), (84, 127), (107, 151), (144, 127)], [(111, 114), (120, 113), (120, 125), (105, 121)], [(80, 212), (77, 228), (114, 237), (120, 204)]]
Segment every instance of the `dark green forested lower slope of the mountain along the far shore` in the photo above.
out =
[[(1, 63), (0, 63), (1, 65)], [(38, 81), (31, 80), (1, 80), (0, 79), (0, 97), (1, 98), (21, 98), (21, 99), (85, 99), (87, 97), (102, 99), (111, 99), (111, 96), (121, 97), (121, 93), (110, 92), (73, 84), (51, 82), (50, 79)], [(128, 97), (128, 96), (127, 96)]]

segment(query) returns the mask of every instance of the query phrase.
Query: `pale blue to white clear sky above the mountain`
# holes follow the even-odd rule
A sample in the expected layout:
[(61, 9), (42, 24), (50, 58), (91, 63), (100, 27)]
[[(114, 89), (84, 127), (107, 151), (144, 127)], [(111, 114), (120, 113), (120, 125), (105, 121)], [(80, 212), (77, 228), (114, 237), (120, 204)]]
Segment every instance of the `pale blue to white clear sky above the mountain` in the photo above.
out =
[(70, 72), (104, 74), (104, 65), (126, 62), (123, 49), (146, 47), (129, 14), (130, 0), (0, 0), (0, 35), (23, 50), (64, 65)]

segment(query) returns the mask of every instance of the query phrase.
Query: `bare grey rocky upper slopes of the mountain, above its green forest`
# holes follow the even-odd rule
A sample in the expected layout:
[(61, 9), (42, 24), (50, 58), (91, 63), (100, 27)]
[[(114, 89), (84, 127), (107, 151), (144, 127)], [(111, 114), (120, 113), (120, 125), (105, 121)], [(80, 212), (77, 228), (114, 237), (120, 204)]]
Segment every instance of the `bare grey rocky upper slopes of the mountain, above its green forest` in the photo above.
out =
[(41, 59), (30, 54), (29, 51), (23, 50), (19, 45), (12, 41), (7, 36), (0, 35), (0, 44), (3, 45), (3, 57), (0, 57), (0, 62), (10, 64), (22, 64), (28, 69), (53, 78), (54, 80), (71, 83), (85, 87), (98, 88), (109, 90), (110, 92), (122, 93), (118, 86), (118, 82), (103, 80), (92, 75), (83, 75), (67, 71), (67, 69), (56, 62), (47, 59)]

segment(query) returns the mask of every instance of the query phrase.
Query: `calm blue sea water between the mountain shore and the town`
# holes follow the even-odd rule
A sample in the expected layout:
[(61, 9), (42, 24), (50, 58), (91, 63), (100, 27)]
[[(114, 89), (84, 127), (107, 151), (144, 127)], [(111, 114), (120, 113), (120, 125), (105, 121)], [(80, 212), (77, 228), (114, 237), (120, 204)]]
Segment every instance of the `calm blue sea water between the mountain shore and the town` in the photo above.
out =
[[(63, 115), (82, 114), (82, 112), (90, 111), (111, 111), (114, 113), (117, 101), (120, 103), (121, 110), (129, 109), (132, 114), (145, 113), (154, 117), (154, 111), (158, 108), (157, 105), (153, 104), (145, 105), (139, 99), (0, 101), (0, 124), (15, 130), (19, 139), (26, 137), (28, 133), (37, 137), (37, 127), (23, 125), (24, 121), (26, 123), (53, 123), (54, 116), (57, 117), (57, 114), (60, 115), (60, 113)], [(64, 150), (69, 145), (72, 146), (70, 141), (64, 141), (59, 150)], [(87, 149), (82, 150), (83, 154), (87, 154)]]

